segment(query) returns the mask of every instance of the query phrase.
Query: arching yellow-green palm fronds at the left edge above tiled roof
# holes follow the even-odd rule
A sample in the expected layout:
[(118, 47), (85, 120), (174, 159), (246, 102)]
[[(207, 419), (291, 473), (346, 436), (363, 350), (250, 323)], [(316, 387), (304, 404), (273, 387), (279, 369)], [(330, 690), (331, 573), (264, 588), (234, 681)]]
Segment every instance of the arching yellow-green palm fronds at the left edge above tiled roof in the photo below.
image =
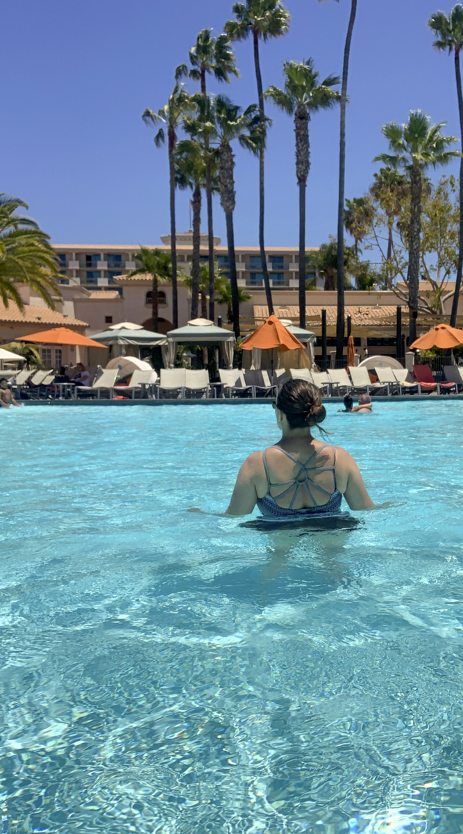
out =
[(18, 208), (28, 208), (18, 197), (0, 194), (0, 299), (5, 307), (12, 299), (24, 308), (18, 284), (34, 289), (48, 307), (54, 307), (53, 296), (59, 295), (59, 265), (50, 238), (38, 224)]

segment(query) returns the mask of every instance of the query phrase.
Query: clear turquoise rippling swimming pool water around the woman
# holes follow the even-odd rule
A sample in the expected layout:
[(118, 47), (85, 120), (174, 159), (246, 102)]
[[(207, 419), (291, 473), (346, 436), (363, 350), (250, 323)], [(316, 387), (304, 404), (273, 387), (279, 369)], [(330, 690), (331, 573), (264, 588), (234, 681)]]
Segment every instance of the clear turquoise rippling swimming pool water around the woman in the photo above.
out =
[(356, 530), (225, 508), (246, 408), (0, 412), (3, 834), (463, 829), (463, 402), (336, 414)]

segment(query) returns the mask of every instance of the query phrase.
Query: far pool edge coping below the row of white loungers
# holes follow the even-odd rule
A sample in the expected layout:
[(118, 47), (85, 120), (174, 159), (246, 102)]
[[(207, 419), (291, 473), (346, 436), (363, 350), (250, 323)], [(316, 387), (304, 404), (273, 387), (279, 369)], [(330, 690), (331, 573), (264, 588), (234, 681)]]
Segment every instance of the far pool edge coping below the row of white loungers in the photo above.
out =
[[(67, 406), (84, 406), (89, 405), (105, 405), (116, 407), (130, 407), (132, 405), (263, 405), (271, 404), (275, 398), (266, 397), (246, 397), (240, 399), (219, 398), (219, 399), (25, 399), (21, 400), (22, 405), (57, 405), (62, 407)], [(391, 402), (424, 402), (429, 399), (437, 402), (454, 402), (456, 399), (463, 399), (462, 394), (391, 394), (391, 396), (381, 395), (372, 397), (373, 403), (391, 403)], [(326, 397), (324, 403), (343, 403), (343, 397)]]

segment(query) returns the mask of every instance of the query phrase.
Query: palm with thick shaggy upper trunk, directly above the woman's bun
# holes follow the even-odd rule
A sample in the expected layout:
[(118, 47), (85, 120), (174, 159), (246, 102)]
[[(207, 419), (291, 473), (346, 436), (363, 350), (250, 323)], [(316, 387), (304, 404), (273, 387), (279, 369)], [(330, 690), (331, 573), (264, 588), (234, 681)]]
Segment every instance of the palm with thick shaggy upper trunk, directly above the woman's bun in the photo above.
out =
[(296, 178), (299, 186), (299, 326), (306, 327), (306, 185), (310, 168), (309, 122), (311, 113), (327, 109), (341, 96), (331, 89), (340, 78), (329, 75), (318, 83), (312, 58), (302, 63), (286, 61), (283, 64), (285, 88), (271, 85), (264, 98), (271, 98), (281, 110), (294, 116), (296, 133)]

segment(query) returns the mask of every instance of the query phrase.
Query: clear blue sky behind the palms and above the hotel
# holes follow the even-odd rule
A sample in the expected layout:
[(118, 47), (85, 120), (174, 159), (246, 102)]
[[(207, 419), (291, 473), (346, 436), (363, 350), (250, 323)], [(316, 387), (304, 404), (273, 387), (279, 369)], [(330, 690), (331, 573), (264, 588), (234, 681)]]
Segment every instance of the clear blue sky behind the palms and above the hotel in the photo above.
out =
[[(288, 0), (291, 29), (261, 45), (264, 87), (281, 85), (281, 63), (313, 57), (321, 76), (341, 74), (348, 0)], [(431, 48), (430, 14), (440, 0), (359, 0), (347, 109), (346, 197), (371, 183), (381, 125), (422, 108), (458, 135), (453, 60)], [(2, 9), (2, 183), (26, 200), (54, 243), (159, 244), (169, 230), (167, 151), (142, 123), (160, 108), (173, 71), (204, 27), (222, 32), (231, 0), (40, 0)], [(251, 42), (236, 44), (241, 78), (210, 81), (237, 103), (256, 102)], [(190, 83), (191, 90), (196, 85)], [(266, 154), (266, 244), (297, 245), (291, 118), (274, 118)], [(339, 111), (311, 122), (307, 244), (336, 233)], [(460, 147), (459, 145), (456, 147)], [(457, 173), (458, 163), (448, 170)], [(236, 151), (236, 244), (257, 244), (257, 163)], [(187, 193), (177, 229), (187, 229)], [(203, 230), (206, 224), (202, 224)], [(223, 212), (215, 230), (226, 242)]]

